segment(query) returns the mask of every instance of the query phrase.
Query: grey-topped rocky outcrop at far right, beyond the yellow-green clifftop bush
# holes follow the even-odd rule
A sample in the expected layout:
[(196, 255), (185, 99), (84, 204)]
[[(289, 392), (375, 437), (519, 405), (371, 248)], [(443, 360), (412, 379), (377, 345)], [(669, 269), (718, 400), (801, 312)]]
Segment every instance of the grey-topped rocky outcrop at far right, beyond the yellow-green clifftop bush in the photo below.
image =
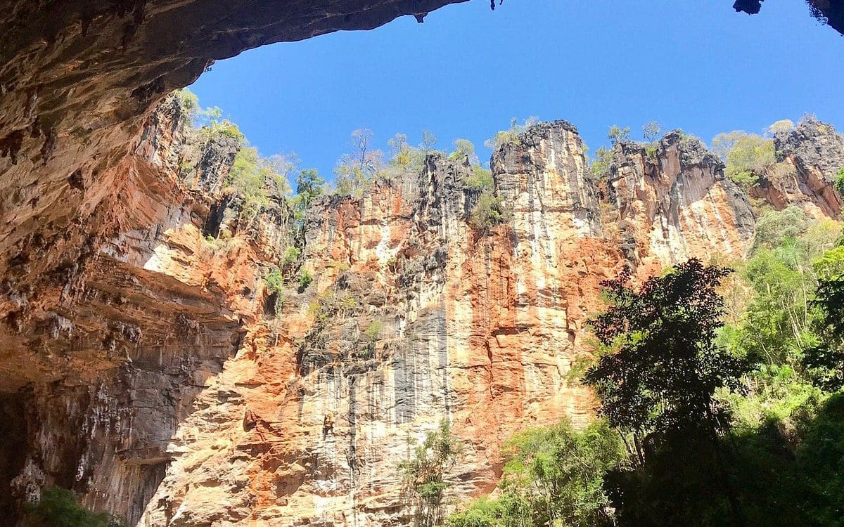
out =
[(836, 175), (844, 169), (844, 136), (834, 126), (809, 117), (774, 137), (777, 164), (768, 167), (750, 196), (776, 210), (803, 208), (814, 218), (841, 218)]

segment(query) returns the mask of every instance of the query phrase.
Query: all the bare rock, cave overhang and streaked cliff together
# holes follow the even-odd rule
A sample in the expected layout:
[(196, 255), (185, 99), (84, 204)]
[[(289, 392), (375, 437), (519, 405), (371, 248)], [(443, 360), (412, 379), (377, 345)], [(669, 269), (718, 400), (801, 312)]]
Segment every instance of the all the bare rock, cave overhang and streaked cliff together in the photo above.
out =
[[(165, 94), (252, 47), (446, 3), (3, 3), (0, 524), (54, 484), (131, 525), (397, 524), (395, 465), (441, 417), (469, 445), (456, 492), (487, 492), (509, 433), (591, 415), (566, 374), (601, 279), (744, 254), (748, 198), (700, 143), (621, 143), (599, 185), (558, 121), (496, 151), (513, 218), (490, 232), (468, 221), (461, 161), (324, 198), (301, 262), (315, 283), (274, 313), (263, 276), (290, 212), (239, 222), (220, 184), (235, 145), (192, 143)], [(814, 5), (841, 31), (840, 3)], [(835, 131), (777, 148), (794, 169), (755, 197), (835, 216)]]

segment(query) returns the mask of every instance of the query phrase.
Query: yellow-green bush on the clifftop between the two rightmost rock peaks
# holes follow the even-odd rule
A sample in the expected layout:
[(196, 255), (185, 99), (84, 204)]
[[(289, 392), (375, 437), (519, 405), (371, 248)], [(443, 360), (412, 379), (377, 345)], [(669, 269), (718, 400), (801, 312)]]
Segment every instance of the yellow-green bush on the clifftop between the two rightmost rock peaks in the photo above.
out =
[(766, 167), (776, 163), (774, 142), (747, 132), (718, 134), (712, 139), (712, 151), (727, 164), (727, 177), (744, 188), (754, 185)]

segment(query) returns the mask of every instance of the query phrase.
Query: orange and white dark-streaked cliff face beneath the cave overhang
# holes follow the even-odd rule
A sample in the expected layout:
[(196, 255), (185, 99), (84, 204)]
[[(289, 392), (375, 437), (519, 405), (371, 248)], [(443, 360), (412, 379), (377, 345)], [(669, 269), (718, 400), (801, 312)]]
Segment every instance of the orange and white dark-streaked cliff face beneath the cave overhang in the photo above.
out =
[(406, 523), (398, 464), (442, 419), (466, 447), (454, 504), (495, 487), (512, 433), (592, 418), (570, 372), (602, 280), (754, 234), (696, 140), (621, 144), (595, 180), (562, 121), (496, 151), (510, 218), (488, 229), (473, 169), (436, 154), (300, 223), (282, 201), (247, 218), (220, 190), (231, 145), (192, 145), (173, 111), (116, 175), (111, 234), (3, 336), (55, 380), (33, 368), (0, 401), (26, 409), (25, 454), (0, 464), (21, 499), (58, 483), (144, 526)]

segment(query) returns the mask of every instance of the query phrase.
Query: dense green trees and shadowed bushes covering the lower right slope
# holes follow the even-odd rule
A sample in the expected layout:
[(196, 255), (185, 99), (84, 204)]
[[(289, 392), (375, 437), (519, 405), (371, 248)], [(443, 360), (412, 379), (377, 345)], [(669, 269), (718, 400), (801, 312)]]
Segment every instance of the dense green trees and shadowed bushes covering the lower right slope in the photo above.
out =
[(499, 497), (446, 523), (844, 524), (841, 224), (768, 211), (727, 263), (606, 282), (582, 375), (602, 420), (520, 434)]

